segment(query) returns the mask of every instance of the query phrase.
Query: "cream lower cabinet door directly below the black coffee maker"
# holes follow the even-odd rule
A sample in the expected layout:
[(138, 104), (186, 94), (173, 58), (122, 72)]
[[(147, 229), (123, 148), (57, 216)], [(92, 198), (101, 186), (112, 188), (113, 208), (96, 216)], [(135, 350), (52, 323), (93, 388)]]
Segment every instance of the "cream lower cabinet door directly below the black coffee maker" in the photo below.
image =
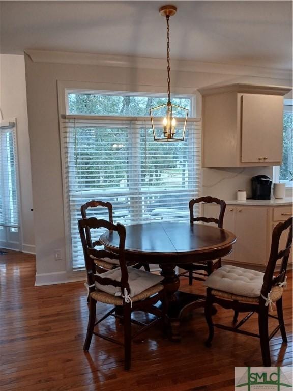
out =
[(236, 260), (239, 263), (267, 263), (267, 208), (236, 207)]

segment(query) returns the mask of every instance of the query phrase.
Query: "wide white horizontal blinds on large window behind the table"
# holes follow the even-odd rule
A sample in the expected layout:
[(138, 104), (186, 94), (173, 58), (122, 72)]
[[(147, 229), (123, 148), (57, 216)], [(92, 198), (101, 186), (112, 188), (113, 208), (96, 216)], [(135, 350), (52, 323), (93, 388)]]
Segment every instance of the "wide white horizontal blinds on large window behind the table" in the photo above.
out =
[[(67, 116), (71, 117), (71, 116)], [(73, 267), (84, 266), (77, 229), (80, 206), (113, 204), (114, 222), (188, 220), (188, 202), (200, 188), (200, 122), (188, 122), (185, 140), (154, 141), (149, 121), (63, 121), (62, 148)], [(107, 219), (103, 208), (89, 216)]]

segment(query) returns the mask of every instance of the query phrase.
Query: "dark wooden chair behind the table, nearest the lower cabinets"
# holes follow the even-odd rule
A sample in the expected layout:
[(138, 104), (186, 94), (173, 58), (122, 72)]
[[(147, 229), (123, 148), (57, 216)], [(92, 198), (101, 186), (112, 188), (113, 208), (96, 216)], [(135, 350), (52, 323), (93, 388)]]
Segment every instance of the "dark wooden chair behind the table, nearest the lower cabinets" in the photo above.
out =
[[(199, 203), (214, 203), (218, 204), (220, 206), (220, 212), (219, 217), (194, 217), (194, 205)], [(189, 213), (190, 213), (190, 224), (194, 224), (194, 222), (205, 222), (205, 223), (211, 223), (214, 222), (218, 225), (219, 228), (223, 228), (223, 219), (226, 209), (226, 203), (223, 200), (219, 200), (215, 197), (200, 197), (195, 198), (189, 201)], [(181, 269), (184, 269), (183, 273), (180, 273), (179, 276), (188, 277), (189, 278), (189, 285), (192, 285), (193, 280), (199, 280), (204, 281), (205, 277), (207, 275), (210, 275), (215, 269), (221, 267), (221, 258), (215, 259), (215, 260), (209, 260), (204, 263), (192, 263), (192, 264), (185, 264), (185, 265), (178, 265)], [(203, 273), (199, 271), (203, 271)], [(198, 277), (199, 276), (199, 277)]]

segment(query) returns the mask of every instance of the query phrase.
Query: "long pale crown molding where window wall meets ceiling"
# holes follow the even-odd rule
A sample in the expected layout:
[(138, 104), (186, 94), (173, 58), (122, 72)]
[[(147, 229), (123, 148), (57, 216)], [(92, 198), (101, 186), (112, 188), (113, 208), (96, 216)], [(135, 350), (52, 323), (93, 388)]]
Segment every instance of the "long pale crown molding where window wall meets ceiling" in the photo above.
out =
[[(95, 65), (102, 67), (122, 67), (140, 69), (166, 69), (165, 59), (131, 57), (127, 55), (74, 53), (26, 49), (25, 53), (35, 63), (57, 63)], [(248, 65), (218, 64), (188, 60), (171, 60), (173, 70), (183, 72), (217, 73), (239, 76), (258, 76), (291, 80), (291, 70), (265, 68)]]

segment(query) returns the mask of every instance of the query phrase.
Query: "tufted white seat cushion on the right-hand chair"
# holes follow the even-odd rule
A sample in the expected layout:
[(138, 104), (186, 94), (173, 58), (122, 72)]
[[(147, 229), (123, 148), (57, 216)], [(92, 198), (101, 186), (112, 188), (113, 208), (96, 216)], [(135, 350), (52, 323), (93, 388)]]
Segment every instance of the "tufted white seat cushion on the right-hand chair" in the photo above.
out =
[(225, 265), (215, 270), (204, 285), (239, 296), (259, 297), (263, 276), (260, 271)]

